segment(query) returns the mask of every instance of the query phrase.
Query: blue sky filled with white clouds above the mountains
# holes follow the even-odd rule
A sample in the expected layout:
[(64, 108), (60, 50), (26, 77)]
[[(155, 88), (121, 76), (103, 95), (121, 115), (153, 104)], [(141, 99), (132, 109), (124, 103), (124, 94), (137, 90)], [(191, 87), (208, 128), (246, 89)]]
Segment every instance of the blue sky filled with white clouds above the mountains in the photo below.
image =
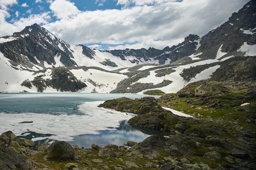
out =
[(0, 37), (38, 23), (70, 45), (163, 49), (203, 36), (249, 0), (0, 0)]

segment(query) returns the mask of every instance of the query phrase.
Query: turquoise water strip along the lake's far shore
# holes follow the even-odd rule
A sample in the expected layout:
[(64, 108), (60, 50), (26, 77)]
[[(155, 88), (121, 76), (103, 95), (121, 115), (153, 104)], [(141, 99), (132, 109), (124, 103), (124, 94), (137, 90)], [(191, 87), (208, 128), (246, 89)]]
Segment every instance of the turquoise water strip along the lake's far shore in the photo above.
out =
[(84, 102), (144, 96), (113, 93), (0, 93), (0, 112), (81, 114), (76, 108)]

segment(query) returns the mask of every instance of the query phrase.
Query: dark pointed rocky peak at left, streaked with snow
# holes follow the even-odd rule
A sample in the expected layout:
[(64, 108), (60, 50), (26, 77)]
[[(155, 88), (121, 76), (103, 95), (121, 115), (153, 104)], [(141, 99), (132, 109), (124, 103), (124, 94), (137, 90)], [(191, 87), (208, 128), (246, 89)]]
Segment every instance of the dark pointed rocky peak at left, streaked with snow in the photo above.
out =
[[(21, 32), (15, 32), (12, 36), (3, 38), (15, 38), (15, 40), (0, 43), (0, 52), (17, 65), (28, 66), (28, 62), (39, 64), (38, 61), (42, 64), (41, 66), (44, 65), (44, 62), (55, 65), (54, 57), (56, 55), (61, 56), (60, 61), (65, 66), (76, 65), (76, 62), (70, 59), (73, 58), (70, 45), (38, 24), (26, 26)], [(27, 60), (24, 59), (24, 56), (27, 57)]]

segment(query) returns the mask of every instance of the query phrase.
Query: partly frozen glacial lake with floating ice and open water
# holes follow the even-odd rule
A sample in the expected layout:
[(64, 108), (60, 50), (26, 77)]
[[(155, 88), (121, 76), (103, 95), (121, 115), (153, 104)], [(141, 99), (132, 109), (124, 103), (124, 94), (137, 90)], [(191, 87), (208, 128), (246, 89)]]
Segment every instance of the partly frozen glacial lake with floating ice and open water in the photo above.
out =
[[(143, 141), (150, 135), (168, 135), (157, 130), (131, 127), (134, 115), (99, 108), (114, 98), (142, 98), (148, 95), (112, 93), (2, 93), (0, 94), (0, 134), (11, 130), (35, 144), (64, 140), (88, 148), (91, 144), (121, 146), (127, 141)], [(158, 98), (160, 96), (154, 96)], [(33, 121), (33, 123), (21, 123)]]

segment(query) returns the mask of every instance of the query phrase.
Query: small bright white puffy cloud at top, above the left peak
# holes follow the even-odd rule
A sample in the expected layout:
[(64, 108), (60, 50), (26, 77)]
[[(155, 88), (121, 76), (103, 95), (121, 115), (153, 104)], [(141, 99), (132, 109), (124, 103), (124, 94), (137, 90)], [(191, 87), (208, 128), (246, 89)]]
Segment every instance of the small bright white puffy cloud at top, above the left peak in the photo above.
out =
[(55, 0), (51, 3), (50, 9), (54, 12), (54, 16), (59, 19), (68, 18), (80, 13), (75, 3), (71, 3), (67, 0)]

